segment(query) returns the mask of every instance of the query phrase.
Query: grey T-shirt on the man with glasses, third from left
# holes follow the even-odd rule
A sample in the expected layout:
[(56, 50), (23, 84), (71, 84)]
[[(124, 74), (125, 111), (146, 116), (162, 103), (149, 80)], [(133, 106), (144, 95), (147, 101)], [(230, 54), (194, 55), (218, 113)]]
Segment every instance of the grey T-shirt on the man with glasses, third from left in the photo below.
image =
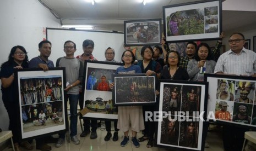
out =
[[(56, 67), (66, 68), (66, 82), (69, 84), (74, 83), (76, 80), (83, 82), (84, 63), (82, 60), (77, 58), (69, 59), (66, 57), (60, 57), (57, 59)], [(79, 94), (79, 85), (69, 89), (67, 94)]]

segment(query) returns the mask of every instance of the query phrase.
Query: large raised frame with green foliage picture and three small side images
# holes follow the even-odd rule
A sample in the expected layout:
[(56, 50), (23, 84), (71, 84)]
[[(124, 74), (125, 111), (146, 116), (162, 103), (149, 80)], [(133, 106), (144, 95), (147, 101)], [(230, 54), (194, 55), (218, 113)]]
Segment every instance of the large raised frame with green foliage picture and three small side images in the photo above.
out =
[(218, 39), (222, 31), (221, 2), (197, 1), (164, 6), (166, 41)]

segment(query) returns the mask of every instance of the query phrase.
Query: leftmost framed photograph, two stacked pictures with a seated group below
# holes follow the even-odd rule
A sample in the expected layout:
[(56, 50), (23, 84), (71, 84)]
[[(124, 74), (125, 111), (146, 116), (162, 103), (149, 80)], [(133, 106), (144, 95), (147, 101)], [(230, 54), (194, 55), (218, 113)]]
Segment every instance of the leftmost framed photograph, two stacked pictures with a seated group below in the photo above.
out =
[(49, 68), (47, 72), (40, 68), (20, 69), (15, 75), (18, 77), (20, 139), (68, 130), (65, 68)]

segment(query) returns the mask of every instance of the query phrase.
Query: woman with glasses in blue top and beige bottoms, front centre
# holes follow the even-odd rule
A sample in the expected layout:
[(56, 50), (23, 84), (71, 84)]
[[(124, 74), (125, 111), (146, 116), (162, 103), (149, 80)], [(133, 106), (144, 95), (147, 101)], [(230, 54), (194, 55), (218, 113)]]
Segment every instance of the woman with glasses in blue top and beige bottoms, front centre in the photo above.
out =
[[(116, 69), (116, 74), (134, 74), (141, 73), (141, 69), (137, 65), (133, 65), (135, 56), (130, 50), (126, 50), (122, 54), (123, 66)], [(115, 84), (111, 83), (110, 88)], [(133, 84), (134, 85), (134, 84)], [(129, 129), (132, 130), (132, 139), (135, 147), (140, 144), (137, 140), (137, 132), (144, 130), (142, 106), (118, 106), (117, 129), (124, 132), (124, 138), (121, 146), (124, 147), (129, 142)]]

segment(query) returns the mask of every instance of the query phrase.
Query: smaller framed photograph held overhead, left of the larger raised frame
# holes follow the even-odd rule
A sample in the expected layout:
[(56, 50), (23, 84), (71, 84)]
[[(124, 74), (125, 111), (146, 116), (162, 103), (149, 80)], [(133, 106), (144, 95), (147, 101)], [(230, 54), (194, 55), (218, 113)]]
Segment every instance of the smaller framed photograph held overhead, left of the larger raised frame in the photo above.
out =
[(124, 44), (160, 45), (161, 19), (124, 21)]

